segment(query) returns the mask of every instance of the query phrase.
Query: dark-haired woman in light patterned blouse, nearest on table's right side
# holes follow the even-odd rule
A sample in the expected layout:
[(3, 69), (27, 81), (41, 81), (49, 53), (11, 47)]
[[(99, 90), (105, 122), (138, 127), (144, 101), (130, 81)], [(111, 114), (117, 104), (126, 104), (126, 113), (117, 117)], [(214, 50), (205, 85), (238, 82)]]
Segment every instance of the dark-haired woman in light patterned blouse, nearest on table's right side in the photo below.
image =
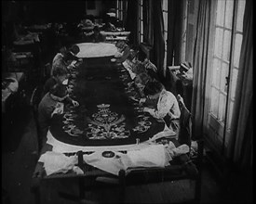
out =
[(144, 94), (147, 98), (140, 100), (140, 103), (144, 103), (146, 106), (143, 111), (148, 112), (157, 120), (164, 120), (168, 128), (174, 131), (178, 138), (181, 110), (176, 97), (158, 81), (146, 83)]

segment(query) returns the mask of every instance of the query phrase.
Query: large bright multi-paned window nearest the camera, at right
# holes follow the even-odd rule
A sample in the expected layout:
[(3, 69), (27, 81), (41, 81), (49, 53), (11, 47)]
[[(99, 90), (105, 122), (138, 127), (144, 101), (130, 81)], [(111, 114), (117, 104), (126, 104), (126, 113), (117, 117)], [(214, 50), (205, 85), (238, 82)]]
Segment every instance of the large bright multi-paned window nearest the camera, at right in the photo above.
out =
[[(218, 0), (211, 60), (209, 127), (211, 135), (228, 141), (243, 39), (244, 0)], [(226, 133), (224, 134), (224, 131)], [(223, 138), (226, 135), (226, 138)], [(224, 139), (224, 140), (223, 140)]]

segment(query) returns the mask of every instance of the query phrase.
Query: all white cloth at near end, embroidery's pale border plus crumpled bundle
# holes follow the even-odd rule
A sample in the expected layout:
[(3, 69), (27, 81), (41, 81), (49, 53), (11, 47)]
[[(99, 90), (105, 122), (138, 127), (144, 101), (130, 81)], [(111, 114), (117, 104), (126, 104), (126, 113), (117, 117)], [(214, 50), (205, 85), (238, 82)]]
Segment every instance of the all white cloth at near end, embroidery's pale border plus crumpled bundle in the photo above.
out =
[[(168, 160), (173, 157), (177, 157), (181, 154), (187, 153), (189, 147), (182, 145), (181, 147), (175, 147), (173, 143), (169, 142), (170, 154), (165, 151), (165, 146), (152, 143), (151, 141), (157, 138), (166, 137), (170, 134), (167, 126), (162, 132), (155, 134), (150, 140), (141, 144), (133, 144), (126, 146), (107, 146), (107, 147), (80, 147), (62, 143), (55, 139), (48, 131), (47, 144), (51, 145), (52, 151), (47, 151), (41, 155), (38, 161), (44, 163), (44, 168), (47, 175), (56, 172), (68, 172), (73, 170), (77, 174), (83, 173), (77, 166), (77, 156), (67, 157), (62, 153), (65, 152), (77, 152), (77, 151), (93, 151), (92, 154), (84, 155), (83, 159), (91, 166), (97, 167), (105, 172), (110, 172), (118, 175), (120, 170), (125, 170), (127, 173), (131, 168), (137, 167), (160, 167), (164, 168), (168, 166)], [(157, 135), (160, 135), (160, 137)], [(127, 154), (123, 154), (119, 151), (128, 151)], [(103, 151), (113, 151), (115, 157), (104, 158), (102, 157)]]

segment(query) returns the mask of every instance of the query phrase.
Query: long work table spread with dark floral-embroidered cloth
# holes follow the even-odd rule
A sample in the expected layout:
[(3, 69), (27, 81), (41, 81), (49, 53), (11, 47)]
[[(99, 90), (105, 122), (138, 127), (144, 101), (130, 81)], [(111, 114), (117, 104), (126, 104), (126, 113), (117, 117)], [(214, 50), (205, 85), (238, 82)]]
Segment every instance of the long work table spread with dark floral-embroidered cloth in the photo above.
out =
[[(101, 46), (104, 45), (109, 46), (101, 44)], [(97, 165), (92, 166), (85, 158), (83, 159), (86, 155), (93, 155), (100, 151), (102, 154), (98, 154), (99, 157), (110, 158), (109, 165), (111, 165), (112, 154), (115, 155), (115, 152), (126, 154), (129, 150), (150, 146), (149, 138), (163, 131), (165, 123), (156, 121), (148, 113), (142, 111), (138, 100), (134, 100), (141, 96), (130, 79), (128, 70), (122, 64), (111, 62), (113, 55), (102, 54), (98, 57), (97, 55), (88, 57), (88, 54), (82, 54), (82, 46), (86, 48), (87, 45), (80, 45), (80, 54), (78, 53), (77, 56), (82, 57), (83, 62), (72, 71), (68, 85), (72, 90), (70, 96), (80, 105), (76, 108), (65, 105), (61, 115), (53, 115), (47, 133), (47, 144), (41, 155), (42, 157), (46, 152), (51, 151), (67, 157), (77, 156), (77, 166), (82, 172), (77, 173), (71, 170), (47, 175), (44, 163), (39, 159), (35, 167), (34, 181), (35, 179), (42, 181), (77, 177), (81, 199), (85, 198), (85, 185), (82, 180), (85, 177), (93, 179), (99, 176), (114, 177), (122, 186), (120, 189), (124, 189), (128, 181), (132, 181), (127, 178), (143, 172), (160, 172), (162, 179), (167, 177), (172, 180), (193, 178), (197, 181), (199, 173), (186, 154), (173, 159), (167, 168), (135, 168), (129, 173), (120, 170), (115, 175), (108, 171), (109, 167), (104, 169)], [(88, 44), (88, 47), (92, 46), (94, 45)], [(172, 142), (179, 147), (176, 140), (172, 139)], [(107, 163), (106, 160), (104, 162)], [(100, 166), (102, 165), (106, 164), (101, 163)], [(136, 179), (136, 181), (139, 180)], [(157, 182), (161, 181), (157, 180)], [(38, 195), (40, 195), (41, 183), (36, 184), (33, 189), (36, 189), (34, 191), (36, 200), (40, 202)], [(198, 188), (195, 197), (198, 198), (199, 192)], [(120, 199), (123, 200), (124, 193), (120, 195)]]

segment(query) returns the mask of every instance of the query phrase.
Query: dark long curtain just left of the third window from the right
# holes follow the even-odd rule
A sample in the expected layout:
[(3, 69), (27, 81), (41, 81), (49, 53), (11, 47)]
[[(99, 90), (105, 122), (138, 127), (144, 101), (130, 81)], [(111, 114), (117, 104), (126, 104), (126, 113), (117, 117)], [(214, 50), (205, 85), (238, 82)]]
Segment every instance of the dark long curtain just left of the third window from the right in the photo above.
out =
[(158, 70), (159, 77), (165, 77), (164, 57), (165, 57), (165, 40), (164, 40), (164, 19), (162, 13), (162, 1), (152, 1), (153, 5), (153, 22), (154, 22), (154, 46), (153, 62)]

